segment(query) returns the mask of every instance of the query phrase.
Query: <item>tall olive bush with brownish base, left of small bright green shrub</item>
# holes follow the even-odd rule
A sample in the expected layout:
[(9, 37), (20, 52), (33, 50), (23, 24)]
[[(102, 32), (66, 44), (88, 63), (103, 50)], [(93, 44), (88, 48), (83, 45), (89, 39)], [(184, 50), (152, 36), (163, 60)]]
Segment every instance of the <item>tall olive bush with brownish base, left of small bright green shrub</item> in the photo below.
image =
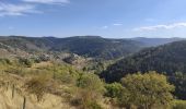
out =
[(100, 77), (91, 73), (81, 73), (77, 81), (78, 92), (72, 102), (79, 105), (82, 109), (101, 109), (97, 104), (104, 93), (104, 84)]

